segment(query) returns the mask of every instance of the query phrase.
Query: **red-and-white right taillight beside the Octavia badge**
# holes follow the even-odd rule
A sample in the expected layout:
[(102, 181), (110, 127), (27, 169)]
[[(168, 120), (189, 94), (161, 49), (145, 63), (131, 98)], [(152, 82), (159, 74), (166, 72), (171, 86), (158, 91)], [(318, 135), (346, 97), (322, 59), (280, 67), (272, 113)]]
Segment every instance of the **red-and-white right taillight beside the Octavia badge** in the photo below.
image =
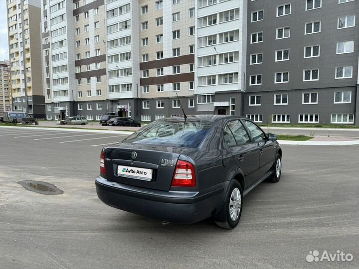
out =
[(193, 165), (188, 161), (178, 160), (174, 176), (173, 187), (195, 187), (195, 173)]

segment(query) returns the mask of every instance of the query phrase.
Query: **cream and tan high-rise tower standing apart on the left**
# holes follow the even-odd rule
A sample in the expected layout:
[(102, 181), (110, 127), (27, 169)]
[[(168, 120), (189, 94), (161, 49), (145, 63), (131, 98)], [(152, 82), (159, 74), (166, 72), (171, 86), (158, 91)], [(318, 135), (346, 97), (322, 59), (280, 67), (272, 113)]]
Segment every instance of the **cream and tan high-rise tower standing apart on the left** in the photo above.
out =
[[(44, 118), (39, 0), (7, 0), (12, 109)], [(34, 72), (36, 71), (36, 72)]]

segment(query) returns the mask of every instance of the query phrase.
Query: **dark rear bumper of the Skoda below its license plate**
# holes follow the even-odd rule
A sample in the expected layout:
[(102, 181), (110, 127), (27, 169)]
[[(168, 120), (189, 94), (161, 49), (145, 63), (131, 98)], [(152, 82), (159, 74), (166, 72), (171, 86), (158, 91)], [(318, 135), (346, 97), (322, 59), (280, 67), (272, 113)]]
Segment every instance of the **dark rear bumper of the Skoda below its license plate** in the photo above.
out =
[(142, 189), (103, 177), (96, 179), (96, 192), (105, 204), (169, 222), (195, 223), (215, 213), (222, 204), (224, 186), (217, 185), (205, 192), (157, 191)]

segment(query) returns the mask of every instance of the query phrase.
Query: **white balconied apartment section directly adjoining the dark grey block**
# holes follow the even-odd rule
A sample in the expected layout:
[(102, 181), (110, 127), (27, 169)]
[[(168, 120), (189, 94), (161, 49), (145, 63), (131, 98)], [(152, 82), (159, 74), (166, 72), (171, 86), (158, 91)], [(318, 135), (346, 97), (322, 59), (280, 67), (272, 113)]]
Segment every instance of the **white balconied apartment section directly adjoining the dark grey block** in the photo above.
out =
[(240, 115), (245, 91), (247, 1), (196, 0), (197, 114)]

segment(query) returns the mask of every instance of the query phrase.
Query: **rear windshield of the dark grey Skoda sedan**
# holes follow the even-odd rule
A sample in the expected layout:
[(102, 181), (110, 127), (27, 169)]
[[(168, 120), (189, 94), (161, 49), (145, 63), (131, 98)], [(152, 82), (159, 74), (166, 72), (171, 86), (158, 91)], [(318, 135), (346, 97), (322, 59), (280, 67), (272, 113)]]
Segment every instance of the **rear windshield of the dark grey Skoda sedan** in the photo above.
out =
[(213, 122), (199, 119), (157, 120), (128, 136), (124, 142), (163, 146), (198, 147)]

